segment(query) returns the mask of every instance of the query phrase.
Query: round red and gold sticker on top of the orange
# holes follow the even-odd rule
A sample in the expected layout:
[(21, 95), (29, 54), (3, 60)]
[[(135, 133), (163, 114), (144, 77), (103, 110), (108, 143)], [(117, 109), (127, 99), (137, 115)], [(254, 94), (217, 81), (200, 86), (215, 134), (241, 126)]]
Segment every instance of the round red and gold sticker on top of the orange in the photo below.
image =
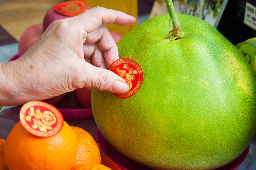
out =
[(63, 116), (51, 104), (31, 101), (20, 108), (20, 122), (31, 134), (50, 137), (57, 134), (63, 126)]

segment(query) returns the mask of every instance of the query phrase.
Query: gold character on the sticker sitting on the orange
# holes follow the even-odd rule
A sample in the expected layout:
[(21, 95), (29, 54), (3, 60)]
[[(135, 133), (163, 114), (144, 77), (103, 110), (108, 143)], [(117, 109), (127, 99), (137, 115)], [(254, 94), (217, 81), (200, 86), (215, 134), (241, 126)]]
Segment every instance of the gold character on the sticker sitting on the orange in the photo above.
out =
[[(47, 130), (52, 130), (52, 125), (56, 122), (55, 115), (50, 111), (45, 111), (42, 113), (39, 109), (36, 109), (32, 106), (29, 108), (28, 116), (25, 119), (29, 122), (33, 121), (31, 127), (33, 129), (39, 128), (41, 132), (47, 132)], [(32, 117), (34, 118), (32, 119)]]

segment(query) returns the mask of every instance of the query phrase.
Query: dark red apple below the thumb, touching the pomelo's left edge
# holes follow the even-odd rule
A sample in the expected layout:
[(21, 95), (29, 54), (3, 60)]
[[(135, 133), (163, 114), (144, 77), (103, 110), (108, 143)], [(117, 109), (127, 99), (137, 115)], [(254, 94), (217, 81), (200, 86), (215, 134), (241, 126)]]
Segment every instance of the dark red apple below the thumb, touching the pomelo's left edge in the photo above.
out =
[(78, 101), (84, 105), (86, 108), (91, 108), (91, 89), (84, 88), (78, 88), (75, 90), (76, 98)]

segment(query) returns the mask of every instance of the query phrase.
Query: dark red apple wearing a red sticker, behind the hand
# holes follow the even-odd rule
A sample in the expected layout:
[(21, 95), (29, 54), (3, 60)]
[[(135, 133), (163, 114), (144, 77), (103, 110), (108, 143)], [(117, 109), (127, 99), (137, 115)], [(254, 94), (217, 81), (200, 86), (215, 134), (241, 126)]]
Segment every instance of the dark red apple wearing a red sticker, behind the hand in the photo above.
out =
[[(85, 11), (91, 9), (90, 7), (86, 7)], [(43, 20), (43, 30), (45, 31), (46, 28), (55, 20), (57, 19), (65, 19), (65, 18), (70, 18), (71, 16), (65, 16), (62, 15), (56, 11), (53, 10), (53, 8), (51, 7), (50, 9), (48, 9), (48, 11), (45, 13), (44, 15), (44, 20)]]

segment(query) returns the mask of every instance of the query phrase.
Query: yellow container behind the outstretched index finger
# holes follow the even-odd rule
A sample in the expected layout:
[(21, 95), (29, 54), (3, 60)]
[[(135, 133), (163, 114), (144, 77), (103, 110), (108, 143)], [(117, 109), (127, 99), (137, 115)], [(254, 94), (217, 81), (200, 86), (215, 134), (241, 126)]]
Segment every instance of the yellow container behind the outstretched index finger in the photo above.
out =
[[(84, 0), (90, 8), (101, 6), (108, 9), (124, 12), (134, 17), (138, 16), (138, 1), (137, 0)], [(117, 32), (121, 35), (126, 35), (137, 26), (137, 21), (130, 26), (117, 26), (115, 24), (106, 24), (108, 29)]]

